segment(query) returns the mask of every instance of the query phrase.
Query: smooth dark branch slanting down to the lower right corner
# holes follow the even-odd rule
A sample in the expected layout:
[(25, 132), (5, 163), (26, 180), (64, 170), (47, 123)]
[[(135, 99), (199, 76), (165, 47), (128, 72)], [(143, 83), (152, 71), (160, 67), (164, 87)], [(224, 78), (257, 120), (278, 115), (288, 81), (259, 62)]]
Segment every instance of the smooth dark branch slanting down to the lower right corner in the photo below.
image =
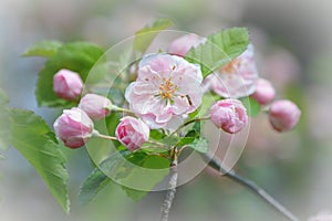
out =
[(241, 177), (236, 173), (234, 170), (227, 170), (219, 158), (214, 157), (211, 154), (203, 154), (203, 158), (209, 164), (209, 166), (220, 173), (224, 173), (226, 177), (231, 180), (238, 182), (239, 185), (248, 188), (253, 193), (258, 194), (261, 199), (263, 199), (267, 203), (269, 203), (272, 208), (274, 208), (278, 212), (280, 212), (283, 217), (286, 217), (290, 221), (300, 221), (292, 212), (286, 209), (280, 202), (278, 202), (274, 198), (268, 194), (261, 187), (256, 185), (253, 181)]

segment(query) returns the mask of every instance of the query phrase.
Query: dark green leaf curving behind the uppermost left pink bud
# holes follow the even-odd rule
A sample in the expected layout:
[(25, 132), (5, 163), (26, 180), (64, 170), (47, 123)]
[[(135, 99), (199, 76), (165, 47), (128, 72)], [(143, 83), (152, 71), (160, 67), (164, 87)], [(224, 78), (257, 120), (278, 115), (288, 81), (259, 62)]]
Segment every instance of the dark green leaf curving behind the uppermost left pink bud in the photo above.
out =
[(73, 102), (59, 98), (53, 92), (53, 75), (61, 69), (77, 72), (85, 81), (92, 66), (103, 55), (103, 50), (86, 42), (68, 43), (59, 48), (40, 72), (35, 96), (39, 106), (74, 106)]

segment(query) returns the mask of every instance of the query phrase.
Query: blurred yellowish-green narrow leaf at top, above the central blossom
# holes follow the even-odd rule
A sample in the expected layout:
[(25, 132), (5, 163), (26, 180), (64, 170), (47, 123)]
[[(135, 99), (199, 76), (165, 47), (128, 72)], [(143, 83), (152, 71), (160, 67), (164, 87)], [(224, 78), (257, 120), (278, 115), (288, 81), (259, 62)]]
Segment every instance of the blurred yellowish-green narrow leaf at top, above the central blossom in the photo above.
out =
[(144, 27), (135, 34), (134, 49), (143, 54), (156, 35), (170, 25), (173, 25), (173, 22), (169, 19), (159, 18), (152, 25)]

